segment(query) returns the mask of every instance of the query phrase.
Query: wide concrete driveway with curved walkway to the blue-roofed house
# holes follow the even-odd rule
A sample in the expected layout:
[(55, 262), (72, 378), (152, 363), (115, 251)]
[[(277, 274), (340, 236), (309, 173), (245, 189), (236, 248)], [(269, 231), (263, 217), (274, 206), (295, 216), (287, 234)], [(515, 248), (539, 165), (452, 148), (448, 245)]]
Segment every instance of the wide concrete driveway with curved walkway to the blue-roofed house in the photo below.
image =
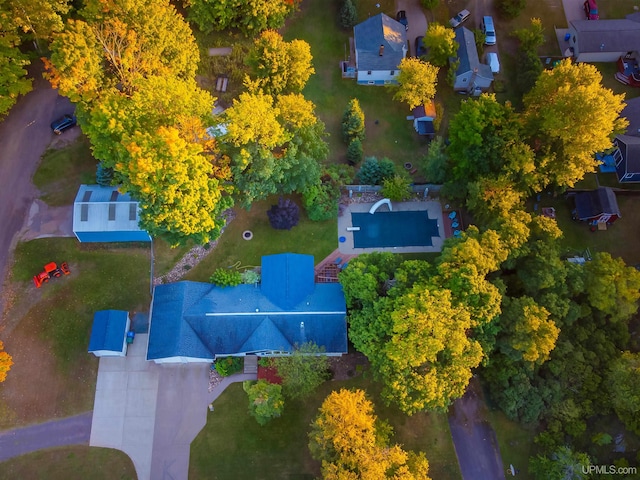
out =
[(227, 377), (209, 392), (209, 364), (148, 362), (148, 338), (136, 335), (126, 357), (100, 359), (89, 445), (125, 452), (138, 480), (187, 480), (191, 442), (208, 405), (232, 382), (257, 375)]

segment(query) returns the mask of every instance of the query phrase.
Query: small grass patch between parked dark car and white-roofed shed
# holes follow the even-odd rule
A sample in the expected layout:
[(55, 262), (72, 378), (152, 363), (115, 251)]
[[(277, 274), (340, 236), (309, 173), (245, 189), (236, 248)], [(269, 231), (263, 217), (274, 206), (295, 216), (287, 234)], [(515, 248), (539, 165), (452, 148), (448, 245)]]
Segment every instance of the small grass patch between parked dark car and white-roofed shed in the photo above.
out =
[(96, 165), (89, 141), (81, 136), (68, 147), (47, 150), (33, 176), (33, 183), (42, 192), (40, 198), (47, 205), (71, 205), (78, 185), (96, 183)]

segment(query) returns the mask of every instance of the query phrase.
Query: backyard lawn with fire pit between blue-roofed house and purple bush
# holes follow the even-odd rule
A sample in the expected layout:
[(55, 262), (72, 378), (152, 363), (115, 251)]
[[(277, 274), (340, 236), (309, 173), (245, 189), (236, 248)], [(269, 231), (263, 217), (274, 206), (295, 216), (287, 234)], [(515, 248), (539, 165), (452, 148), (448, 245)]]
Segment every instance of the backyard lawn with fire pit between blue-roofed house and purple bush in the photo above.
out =
[[(338, 248), (337, 221), (312, 222), (302, 208), (297, 226), (291, 230), (273, 229), (267, 210), (277, 202), (278, 197), (270, 197), (254, 203), (249, 211), (236, 208), (237, 217), (225, 229), (218, 246), (185, 278), (208, 281), (216, 268), (259, 266), (262, 256), (275, 253), (305, 253), (313, 255), (318, 263)], [(253, 232), (252, 240), (242, 239), (245, 230)]]

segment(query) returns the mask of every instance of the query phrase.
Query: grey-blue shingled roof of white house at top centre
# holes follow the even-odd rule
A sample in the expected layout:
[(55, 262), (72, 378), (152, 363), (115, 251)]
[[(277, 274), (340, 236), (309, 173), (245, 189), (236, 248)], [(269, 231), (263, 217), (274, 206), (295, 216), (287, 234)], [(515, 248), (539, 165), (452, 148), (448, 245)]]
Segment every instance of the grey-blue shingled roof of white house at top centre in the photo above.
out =
[[(396, 70), (405, 56), (407, 32), (400, 22), (380, 13), (353, 28), (359, 70)], [(380, 55), (380, 45), (384, 52)]]

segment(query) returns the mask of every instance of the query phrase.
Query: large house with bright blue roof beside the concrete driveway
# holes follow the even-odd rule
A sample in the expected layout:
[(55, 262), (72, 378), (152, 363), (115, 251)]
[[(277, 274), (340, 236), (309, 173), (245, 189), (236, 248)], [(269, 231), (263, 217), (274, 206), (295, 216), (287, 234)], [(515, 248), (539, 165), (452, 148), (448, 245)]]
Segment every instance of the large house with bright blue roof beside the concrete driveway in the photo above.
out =
[(313, 256), (262, 258), (257, 285), (158, 285), (151, 305), (147, 360), (212, 362), (219, 356), (286, 355), (314, 342), (347, 353), (346, 303), (339, 283), (315, 283)]

